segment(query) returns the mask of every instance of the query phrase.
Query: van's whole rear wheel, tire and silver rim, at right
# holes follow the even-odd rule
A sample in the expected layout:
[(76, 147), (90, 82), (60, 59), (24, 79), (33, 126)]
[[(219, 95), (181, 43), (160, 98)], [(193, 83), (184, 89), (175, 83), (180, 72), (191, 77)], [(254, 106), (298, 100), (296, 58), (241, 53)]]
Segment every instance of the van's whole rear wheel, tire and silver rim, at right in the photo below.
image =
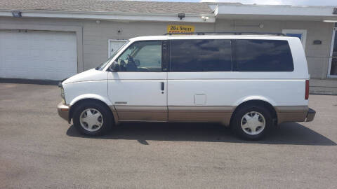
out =
[(272, 125), (272, 116), (263, 106), (244, 106), (232, 119), (232, 130), (239, 137), (248, 140), (261, 139)]

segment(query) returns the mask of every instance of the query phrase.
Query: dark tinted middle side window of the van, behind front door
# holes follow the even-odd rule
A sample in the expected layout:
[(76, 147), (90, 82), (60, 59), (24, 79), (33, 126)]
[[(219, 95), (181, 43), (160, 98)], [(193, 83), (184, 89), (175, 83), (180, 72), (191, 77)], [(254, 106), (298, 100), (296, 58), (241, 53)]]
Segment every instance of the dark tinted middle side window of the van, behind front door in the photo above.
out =
[(227, 39), (171, 40), (171, 71), (231, 71)]

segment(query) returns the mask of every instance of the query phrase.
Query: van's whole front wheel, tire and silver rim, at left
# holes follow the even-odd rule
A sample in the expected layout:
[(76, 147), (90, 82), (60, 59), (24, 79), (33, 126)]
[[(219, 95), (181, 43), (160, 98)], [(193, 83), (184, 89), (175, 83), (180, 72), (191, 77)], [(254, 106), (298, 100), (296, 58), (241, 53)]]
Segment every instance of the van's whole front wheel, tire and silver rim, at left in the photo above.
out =
[(74, 127), (87, 136), (100, 136), (111, 128), (112, 115), (102, 104), (88, 102), (74, 111)]

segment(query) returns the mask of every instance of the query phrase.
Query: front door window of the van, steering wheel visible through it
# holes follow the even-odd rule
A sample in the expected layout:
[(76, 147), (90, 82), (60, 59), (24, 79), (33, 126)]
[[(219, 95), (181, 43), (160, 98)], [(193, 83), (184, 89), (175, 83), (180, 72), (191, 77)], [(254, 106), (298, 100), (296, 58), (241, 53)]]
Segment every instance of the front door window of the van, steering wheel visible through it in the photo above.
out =
[(161, 71), (162, 41), (139, 41), (128, 47), (116, 60), (120, 71)]

